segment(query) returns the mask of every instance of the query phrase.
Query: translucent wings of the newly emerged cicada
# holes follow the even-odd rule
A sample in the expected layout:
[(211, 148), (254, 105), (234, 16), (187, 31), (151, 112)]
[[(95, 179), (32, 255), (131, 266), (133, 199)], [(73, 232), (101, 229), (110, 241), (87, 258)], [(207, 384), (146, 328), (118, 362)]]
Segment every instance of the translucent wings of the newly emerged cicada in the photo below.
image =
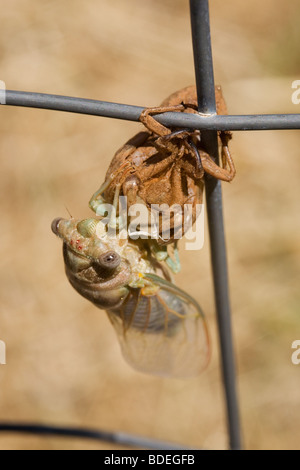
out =
[(107, 312), (125, 359), (135, 369), (154, 375), (198, 375), (210, 356), (199, 305), (172, 283), (147, 277), (160, 287), (155, 295), (132, 289), (120, 309)]

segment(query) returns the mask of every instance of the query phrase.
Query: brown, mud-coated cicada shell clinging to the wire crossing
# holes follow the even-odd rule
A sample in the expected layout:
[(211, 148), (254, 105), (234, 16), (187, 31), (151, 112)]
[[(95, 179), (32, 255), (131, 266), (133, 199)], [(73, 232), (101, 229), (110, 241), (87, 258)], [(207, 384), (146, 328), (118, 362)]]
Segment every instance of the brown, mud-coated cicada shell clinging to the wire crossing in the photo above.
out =
[[(221, 87), (215, 88), (218, 114), (226, 114)], [(188, 129), (169, 129), (152, 115), (165, 112), (197, 113), (197, 94), (194, 86), (186, 87), (165, 99), (161, 106), (146, 108), (140, 121), (146, 127), (130, 139), (114, 155), (105, 181), (90, 206), (97, 212), (103, 202), (114, 204), (118, 196), (126, 196), (128, 207), (142, 202), (148, 209), (153, 205), (192, 207), (192, 223), (197, 217), (196, 205), (202, 204), (204, 175), (208, 173), (223, 181), (231, 181), (235, 167), (228, 149), (230, 132), (219, 133), (222, 167), (204, 150), (201, 132)], [(103, 197), (102, 197), (103, 196)], [(171, 218), (171, 236), (157, 240), (160, 245), (173, 243), (176, 231), (184, 228)], [(163, 226), (160, 222), (160, 235)]]

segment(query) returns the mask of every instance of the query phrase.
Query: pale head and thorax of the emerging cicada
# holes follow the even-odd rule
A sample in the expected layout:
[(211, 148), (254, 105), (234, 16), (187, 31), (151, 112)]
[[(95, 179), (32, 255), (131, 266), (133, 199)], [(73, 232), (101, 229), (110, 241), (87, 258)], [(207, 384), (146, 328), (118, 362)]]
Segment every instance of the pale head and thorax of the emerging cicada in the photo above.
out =
[(116, 244), (96, 235), (99, 220), (55, 219), (52, 231), (63, 240), (67, 277), (81, 294), (103, 309), (116, 308), (127, 295), (130, 263)]

